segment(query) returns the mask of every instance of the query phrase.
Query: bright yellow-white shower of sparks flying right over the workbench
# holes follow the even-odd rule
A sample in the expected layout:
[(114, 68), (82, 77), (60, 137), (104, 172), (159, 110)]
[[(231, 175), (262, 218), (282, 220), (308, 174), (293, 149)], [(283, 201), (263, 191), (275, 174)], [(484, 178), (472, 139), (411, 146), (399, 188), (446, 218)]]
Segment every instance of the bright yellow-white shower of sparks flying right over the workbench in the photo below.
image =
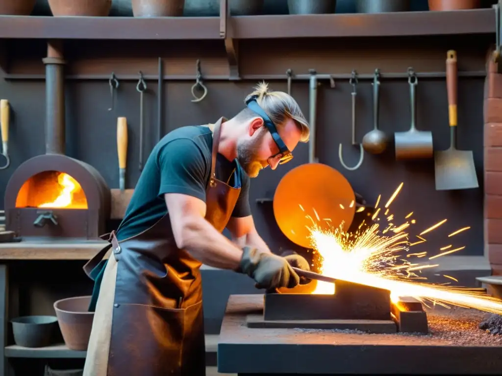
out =
[[(388, 207), (397, 198), (402, 187), (403, 183), (386, 203), (385, 216), (389, 214)], [(381, 209), (379, 208), (380, 200), (381, 195), (374, 207), (376, 216), (371, 216), (373, 224), (368, 225), (363, 221), (354, 233), (345, 233), (343, 224), (338, 228), (331, 227), (329, 230), (323, 230), (317, 223), (314, 223), (312, 217), (307, 215), (313, 223), (311, 227), (308, 227), (310, 241), (314, 252), (319, 256), (318, 269), (322, 275), (389, 290), (393, 301), (400, 296), (412, 296), (426, 306), (430, 302), (445, 307), (449, 307), (449, 304), (502, 314), (502, 302), (499, 299), (478, 290), (452, 286), (451, 281), (458, 282), (454, 277), (443, 275), (450, 281), (440, 284), (419, 282), (418, 280), (427, 279), (419, 275), (422, 270), (435, 268), (439, 264), (419, 262), (420, 258), (427, 256), (427, 252), (408, 253), (408, 251), (413, 245), (425, 243), (426, 239), (422, 235), (439, 228), (447, 220), (444, 219), (422, 231), (420, 236), (416, 235), (420, 241), (413, 243), (409, 241), (409, 235), (404, 231), (415, 223), (414, 220), (410, 220), (413, 212), (406, 216), (404, 223), (396, 225), (388, 223), (382, 227), (384, 230), (381, 231), (380, 223), (374, 223), (375, 219), (380, 220), (377, 217)], [(395, 220), (394, 217), (393, 220)], [(468, 229), (469, 227), (464, 227), (448, 237)], [(390, 235), (385, 235), (387, 232)], [(441, 251), (448, 251), (428, 257), (428, 260), (438, 259), (439, 261), (440, 257), (458, 252), (465, 247), (455, 247), (451, 250), (450, 248), (453, 246), (440, 248)], [(334, 284), (318, 281), (313, 293), (333, 294), (334, 292)]]

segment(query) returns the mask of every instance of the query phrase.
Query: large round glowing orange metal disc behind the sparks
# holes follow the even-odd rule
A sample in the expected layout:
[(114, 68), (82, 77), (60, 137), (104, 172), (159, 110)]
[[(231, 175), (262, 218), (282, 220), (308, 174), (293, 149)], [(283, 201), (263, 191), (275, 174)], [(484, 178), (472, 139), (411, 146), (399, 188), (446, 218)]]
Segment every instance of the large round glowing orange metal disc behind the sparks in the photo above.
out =
[[(347, 231), (355, 214), (355, 194), (347, 179), (322, 163), (302, 164), (279, 182), (274, 195), (274, 216), (293, 243), (311, 248), (307, 227)], [(317, 213), (317, 214), (316, 214)]]

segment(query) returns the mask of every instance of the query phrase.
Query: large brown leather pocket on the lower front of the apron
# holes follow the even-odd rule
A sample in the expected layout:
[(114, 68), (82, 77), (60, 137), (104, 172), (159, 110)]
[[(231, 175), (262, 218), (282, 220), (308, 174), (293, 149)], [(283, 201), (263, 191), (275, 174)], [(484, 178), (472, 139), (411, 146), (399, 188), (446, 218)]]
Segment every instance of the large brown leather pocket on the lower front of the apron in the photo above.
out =
[(113, 308), (108, 373), (189, 374), (183, 368), (196, 359), (190, 359), (191, 355), (200, 356), (203, 325), (202, 302), (186, 309), (117, 304)]

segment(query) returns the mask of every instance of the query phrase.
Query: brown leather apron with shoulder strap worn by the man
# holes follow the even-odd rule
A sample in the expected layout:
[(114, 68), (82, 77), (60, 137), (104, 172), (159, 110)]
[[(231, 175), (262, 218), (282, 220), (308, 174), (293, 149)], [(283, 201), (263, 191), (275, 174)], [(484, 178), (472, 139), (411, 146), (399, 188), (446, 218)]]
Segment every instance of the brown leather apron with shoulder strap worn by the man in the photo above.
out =
[[(222, 121), (214, 125), (205, 217), (220, 233), (240, 193), (240, 166), (235, 170), (236, 187), (215, 176)], [(177, 248), (169, 214), (120, 242), (112, 232), (109, 242), (84, 266), (91, 277), (111, 249), (83, 374), (204, 376), (201, 263)]]

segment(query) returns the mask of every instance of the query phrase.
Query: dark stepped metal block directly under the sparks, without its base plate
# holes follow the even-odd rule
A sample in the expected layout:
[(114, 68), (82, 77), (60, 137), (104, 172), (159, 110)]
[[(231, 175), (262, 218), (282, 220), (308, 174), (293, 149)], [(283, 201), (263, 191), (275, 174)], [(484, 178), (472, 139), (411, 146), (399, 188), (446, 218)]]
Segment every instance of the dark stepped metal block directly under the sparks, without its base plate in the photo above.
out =
[(390, 291), (337, 280), (334, 295), (265, 294), (265, 320), (389, 320)]

